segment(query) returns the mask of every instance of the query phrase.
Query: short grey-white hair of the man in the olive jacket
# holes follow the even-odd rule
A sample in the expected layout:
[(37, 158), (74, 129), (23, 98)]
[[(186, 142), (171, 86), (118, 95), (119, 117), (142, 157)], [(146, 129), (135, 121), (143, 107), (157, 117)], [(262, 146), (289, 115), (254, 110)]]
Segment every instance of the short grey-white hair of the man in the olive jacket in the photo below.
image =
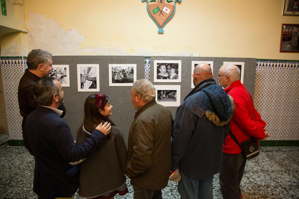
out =
[(132, 86), (132, 91), (135, 95), (139, 94), (144, 102), (149, 102), (156, 98), (154, 85), (145, 79), (135, 81)]

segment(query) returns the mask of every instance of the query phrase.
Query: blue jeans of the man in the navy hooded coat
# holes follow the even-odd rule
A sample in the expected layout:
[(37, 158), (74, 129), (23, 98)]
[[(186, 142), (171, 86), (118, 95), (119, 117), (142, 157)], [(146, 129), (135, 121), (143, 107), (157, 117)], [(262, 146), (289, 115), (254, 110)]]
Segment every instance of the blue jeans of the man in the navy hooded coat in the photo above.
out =
[(181, 181), (178, 184), (178, 191), (181, 199), (213, 199), (213, 175), (205, 179), (191, 179), (181, 170), (180, 174)]

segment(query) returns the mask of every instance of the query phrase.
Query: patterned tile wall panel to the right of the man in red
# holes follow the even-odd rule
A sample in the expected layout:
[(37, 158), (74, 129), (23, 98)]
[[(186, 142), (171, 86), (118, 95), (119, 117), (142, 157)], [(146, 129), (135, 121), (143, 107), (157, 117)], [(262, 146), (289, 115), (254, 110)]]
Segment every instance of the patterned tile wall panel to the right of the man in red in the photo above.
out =
[(299, 63), (258, 59), (256, 65), (254, 105), (271, 132), (269, 140), (299, 140)]

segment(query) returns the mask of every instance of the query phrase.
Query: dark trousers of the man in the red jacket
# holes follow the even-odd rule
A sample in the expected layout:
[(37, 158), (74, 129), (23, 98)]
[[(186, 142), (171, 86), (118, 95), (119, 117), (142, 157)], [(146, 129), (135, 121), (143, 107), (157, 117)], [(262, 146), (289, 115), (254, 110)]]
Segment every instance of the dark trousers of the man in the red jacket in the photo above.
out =
[(246, 158), (240, 154), (222, 154), (219, 183), (224, 199), (239, 199), (241, 194), (240, 183), (243, 177)]

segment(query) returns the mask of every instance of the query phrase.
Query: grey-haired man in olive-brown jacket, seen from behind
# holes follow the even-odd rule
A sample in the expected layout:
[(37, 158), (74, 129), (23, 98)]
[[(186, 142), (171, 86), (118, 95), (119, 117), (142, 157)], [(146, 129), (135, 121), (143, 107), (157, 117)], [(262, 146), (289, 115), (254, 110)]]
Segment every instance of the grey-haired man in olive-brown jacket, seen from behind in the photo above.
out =
[(155, 87), (148, 80), (134, 82), (131, 90), (137, 110), (129, 130), (126, 174), (134, 187), (134, 199), (162, 198), (171, 164), (170, 111), (155, 101)]

